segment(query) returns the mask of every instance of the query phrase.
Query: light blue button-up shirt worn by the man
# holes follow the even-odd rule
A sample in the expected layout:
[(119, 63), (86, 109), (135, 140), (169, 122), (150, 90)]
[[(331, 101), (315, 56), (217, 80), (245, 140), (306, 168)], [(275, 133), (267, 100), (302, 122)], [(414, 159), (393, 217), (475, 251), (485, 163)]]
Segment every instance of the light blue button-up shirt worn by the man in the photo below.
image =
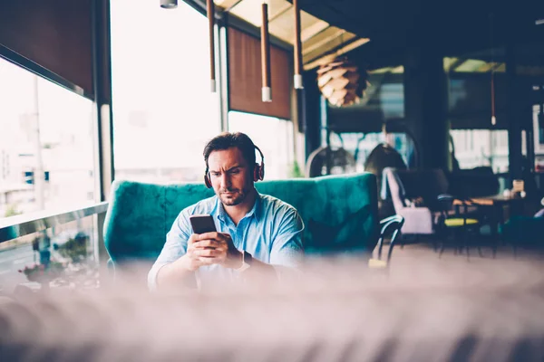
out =
[[(255, 205), (236, 225), (219, 198), (213, 196), (183, 209), (172, 224), (159, 258), (148, 274), (151, 290), (157, 286), (160, 268), (187, 252), (187, 243), (193, 233), (189, 216), (193, 214), (211, 214), (219, 233), (228, 233), (239, 251), (249, 252), (260, 262), (296, 268), (301, 261), (304, 223), (295, 207), (276, 197), (257, 193)], [(231, 281), (239, 274), (217, 264), (202, 266), (195, 273), (200, 283), (209, 278)]]

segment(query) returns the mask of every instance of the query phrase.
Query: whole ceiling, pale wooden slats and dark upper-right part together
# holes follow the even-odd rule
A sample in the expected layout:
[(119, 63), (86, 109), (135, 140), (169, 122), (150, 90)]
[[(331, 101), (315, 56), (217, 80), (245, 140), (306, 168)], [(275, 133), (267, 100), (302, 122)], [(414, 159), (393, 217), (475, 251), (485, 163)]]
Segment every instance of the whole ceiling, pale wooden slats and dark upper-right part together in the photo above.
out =
[[(260, 26), (262, 0), (215, 3)], [(291, 3), (268, 0), (268, 4), (270, 33), (293, 43)], [(544, 0), (299, 0), (299, 4), (305, 69), (316, 67), (324, 55), (348, 51), (376, 69), (402, 64), (407, 50), (467, 57), (507, 42), (529, 44), (529, 52), (520, 52), (527, 53), (523, 62), (544, 65), (544, 24), (535, 24), (544, 18)]]

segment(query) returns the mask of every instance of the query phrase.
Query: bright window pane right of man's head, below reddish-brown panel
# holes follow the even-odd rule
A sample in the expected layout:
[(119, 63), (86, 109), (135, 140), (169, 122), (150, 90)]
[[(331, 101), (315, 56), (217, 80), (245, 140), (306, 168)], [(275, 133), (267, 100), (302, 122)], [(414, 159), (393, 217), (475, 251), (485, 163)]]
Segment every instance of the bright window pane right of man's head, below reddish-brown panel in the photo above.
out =
[[(293, 124), (284, 119), (257, 114), (228, 112), (228, 130), (243, 132), (253, 140), (265, 156), (265, 179), (281, 179), (292, 176)], [(257, 162), (259, 162), (257, 155)]]

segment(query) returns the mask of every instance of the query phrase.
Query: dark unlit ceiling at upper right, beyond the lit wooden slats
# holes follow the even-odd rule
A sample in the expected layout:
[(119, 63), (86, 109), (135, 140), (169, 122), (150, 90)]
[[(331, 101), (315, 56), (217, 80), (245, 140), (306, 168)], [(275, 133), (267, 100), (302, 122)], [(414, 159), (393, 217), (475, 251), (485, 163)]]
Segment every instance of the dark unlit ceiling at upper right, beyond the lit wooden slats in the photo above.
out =
[[(353, 55), (371, 68), (402, 63), (408, 49), (467, 57), (508, 41), (544, 41), (544, 25), (535, 24), (544, 18), (542, 0), (301, 1), (308, 13), (370, 38)], [(532, 62), (544, 64), (541, 56)]]

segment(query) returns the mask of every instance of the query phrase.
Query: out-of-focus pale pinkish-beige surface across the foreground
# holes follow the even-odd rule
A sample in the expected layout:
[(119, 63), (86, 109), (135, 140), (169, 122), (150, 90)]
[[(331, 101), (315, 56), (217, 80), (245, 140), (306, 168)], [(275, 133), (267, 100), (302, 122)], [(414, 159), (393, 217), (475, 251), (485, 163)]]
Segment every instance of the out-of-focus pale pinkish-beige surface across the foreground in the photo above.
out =
[[(313, 260), (284, 281), (150, 293), (148, 265), (100, 289), (0, 303), (5, 361), (532, 361), (544, 359), (544, 262), (393, 252)], [(474, 254), (476, 252), (473, 252)]]

